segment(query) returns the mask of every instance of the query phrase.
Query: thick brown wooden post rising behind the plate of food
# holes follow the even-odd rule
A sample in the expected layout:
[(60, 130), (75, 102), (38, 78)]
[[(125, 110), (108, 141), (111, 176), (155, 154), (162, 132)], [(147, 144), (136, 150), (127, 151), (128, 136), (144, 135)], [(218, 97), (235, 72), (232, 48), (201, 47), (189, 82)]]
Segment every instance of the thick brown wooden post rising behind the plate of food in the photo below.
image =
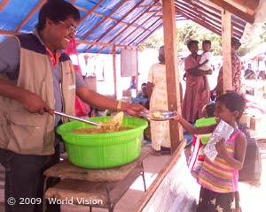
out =
[[(181, 114), (181, 100), (179, 87), (179, 72), (177, 68), (176, 52), (176, 19), (175, 1), (163, 0), (163, 33), (166, 59), (168, 110), (177, 110)], [(170, 120), (171, 154), (183, 140), (181, 125), (175, 120)]]

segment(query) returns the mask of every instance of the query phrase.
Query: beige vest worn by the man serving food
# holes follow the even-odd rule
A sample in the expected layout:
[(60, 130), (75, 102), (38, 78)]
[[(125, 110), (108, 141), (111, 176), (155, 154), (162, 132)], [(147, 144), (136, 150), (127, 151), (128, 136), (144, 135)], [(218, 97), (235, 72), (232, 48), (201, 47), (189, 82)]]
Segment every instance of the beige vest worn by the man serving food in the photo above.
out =
[[(20, 43), (20, 39), (18, 42)], [(38, 42), (34, 45), (36, 44)], [(23, 48), (20, 43), (19, 78), (10, 80), (5, 74), (0, 74), (0, 78), (41, 96), (54, 109), (51, 63), (49, 56), (43, 53), (43, 45), (40, 42), (39, 45), (42, 53)], [(66, 54), (63, 54), (59, 60), (64, 111), (74, 115), (74, 68)], [(22, 155), (54, 153), (54, 116), (49, 113), (43, 115), (30, 113), (20, 102), (3, 96), (0, 96), (0, 134), (0, 148), (6, 148)]]

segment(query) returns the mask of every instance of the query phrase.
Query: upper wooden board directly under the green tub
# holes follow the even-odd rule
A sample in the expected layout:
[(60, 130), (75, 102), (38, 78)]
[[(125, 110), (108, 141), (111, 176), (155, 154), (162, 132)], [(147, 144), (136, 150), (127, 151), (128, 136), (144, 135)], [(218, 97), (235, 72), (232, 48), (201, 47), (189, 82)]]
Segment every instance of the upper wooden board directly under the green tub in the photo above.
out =
[(64, 160), (45, 170), (44, 175), (57, 178), (81, 179), (91, 182), (113, 182), (128, 176), (130, 171), (134, 170), (137, 164), (142, 162), (151, 151), (151, 147), (143, 147), (141, 155), (134, 162), (105, 170), (85, 169)]

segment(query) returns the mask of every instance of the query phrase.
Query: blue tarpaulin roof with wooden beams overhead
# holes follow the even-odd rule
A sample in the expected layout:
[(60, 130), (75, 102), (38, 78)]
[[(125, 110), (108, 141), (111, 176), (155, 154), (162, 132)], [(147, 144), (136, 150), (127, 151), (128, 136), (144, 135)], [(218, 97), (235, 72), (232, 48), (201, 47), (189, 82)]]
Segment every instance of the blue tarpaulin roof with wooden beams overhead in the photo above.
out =
[[(113, 46), (135, 48), (162, 27), (160, 0), (71, 0), (81, 13), (77, 27), (78, 52), (111, 53)], [(192, 21), (222, 34), (222, 11), (232, 14), (232, 33), (240, 38), (246, 22), (254, 21), (259, 0), (175, 0), (176, 21)], [(6, 36), (30, 32), (45, 0), (2, 0), (0, 3), (0, 42)], [(238, 7), (239, 5), (239, 7)], [(240, 7), (241, 6), (241, 7)], [(240, 10), (241, 9), (241, 10)]]

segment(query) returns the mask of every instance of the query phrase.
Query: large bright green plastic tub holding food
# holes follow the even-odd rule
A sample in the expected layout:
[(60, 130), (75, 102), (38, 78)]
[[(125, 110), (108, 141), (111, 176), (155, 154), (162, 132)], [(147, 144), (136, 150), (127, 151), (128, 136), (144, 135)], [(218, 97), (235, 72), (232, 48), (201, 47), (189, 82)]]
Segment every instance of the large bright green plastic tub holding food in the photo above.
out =
[[(111, 117), (91, 117), (106, 122)], [(67, 158), (74, 165), (90, 169), (106, 169), (134, 161), (141, 150), (143, 132), (148, 123), (137, 117), (124, 117), (121, 126), (132, 129), (114, 133), (71, 133), (74, 129), (95, 127), (79, 121), (60, 125), (57, 132), (66, 143)]]

